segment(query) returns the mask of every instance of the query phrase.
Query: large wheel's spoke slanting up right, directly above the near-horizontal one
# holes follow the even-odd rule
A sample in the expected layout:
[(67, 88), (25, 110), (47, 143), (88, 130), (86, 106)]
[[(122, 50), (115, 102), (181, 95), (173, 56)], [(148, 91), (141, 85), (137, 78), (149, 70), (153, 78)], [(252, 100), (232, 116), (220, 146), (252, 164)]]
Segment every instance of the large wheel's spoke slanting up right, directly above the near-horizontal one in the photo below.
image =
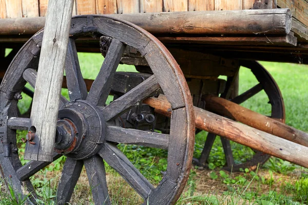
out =
[(136, 105), (139, 101), (150, 96), (153, 92), (159, 89), (159, 84), (156, 77), (152, 75), (148, 79), (144, 80), (137, 87), (131, 89), (125, 95), (112, 101), (108, 106), (102, 109), (106, 121), (112, 120), (117, 116), (120, 116), (127, 109)]

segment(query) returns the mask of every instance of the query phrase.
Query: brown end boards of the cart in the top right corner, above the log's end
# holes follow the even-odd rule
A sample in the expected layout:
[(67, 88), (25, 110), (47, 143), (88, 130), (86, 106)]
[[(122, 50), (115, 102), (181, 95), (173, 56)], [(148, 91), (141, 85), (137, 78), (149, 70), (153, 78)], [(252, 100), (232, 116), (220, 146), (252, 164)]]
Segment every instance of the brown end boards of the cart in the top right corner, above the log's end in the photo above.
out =
[(292, 16), (308, 26), (308, 1), (307, 0), (277, 0), (277, 6), (280, 8), (290, 8)]

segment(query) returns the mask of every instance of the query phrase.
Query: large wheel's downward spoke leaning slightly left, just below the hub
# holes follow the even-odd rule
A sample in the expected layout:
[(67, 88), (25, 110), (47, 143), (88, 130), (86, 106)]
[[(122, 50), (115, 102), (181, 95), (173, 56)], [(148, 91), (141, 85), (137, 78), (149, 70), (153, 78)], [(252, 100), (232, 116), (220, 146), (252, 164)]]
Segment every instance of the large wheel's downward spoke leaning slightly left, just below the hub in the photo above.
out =
[(62, 205), (70, 201), (82, 167), (83, 161), (75, 160), (69, 157), (66, 159), (56, 192), (57, 204)]

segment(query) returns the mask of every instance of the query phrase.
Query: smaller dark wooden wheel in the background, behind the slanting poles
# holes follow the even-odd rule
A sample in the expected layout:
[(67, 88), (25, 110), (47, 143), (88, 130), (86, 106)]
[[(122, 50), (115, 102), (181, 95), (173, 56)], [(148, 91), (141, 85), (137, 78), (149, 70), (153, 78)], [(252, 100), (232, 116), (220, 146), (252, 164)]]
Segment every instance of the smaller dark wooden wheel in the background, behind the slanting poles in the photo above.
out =
[[(233, 101), (234, 103), (241, 104), (260, 91), (264, 90), (269, 99), (268, 103), (271, 104), (272, 107), (271, 117), (284, 122), (285, 110), (283, 98), (272, 75), (269, 74), (266, 69), (257, 61), (242, 60), (240, 64), (243, 67), (251, 69), (259, 83), (253, 88), (243, 92), (242, 94), (233, 98), (229, 98), (229, 100)], [(233, 77), (229, 77), (227, 79), (226, 90), (232, 87), (233, 80)], [(225, 98), (225, 93), (223, 93), (221, 97)], [(194, 158), (194, 161), (197, 162), (198, 165), (204, 165), (204, 163), (206, 163), (210, 154), (210, 150), (213, 147), (215, 138), (215, 134), (208, 133), (200, 158)], [(221, 142), (226, 158), (226, 167), (224, 167), (224, 169), (228, 171), (238, 172), (245, 168), (248, 168), (249, 170), (256, 170), (258, 166), (260, 167), (263, 165), (268, 160), (268, 158), (271, 157), (270, 155), (256, 151), (251, 159), (246, 160), (246, 162), (236, 164), (234, 161), (230, 141), (221, 137)]]

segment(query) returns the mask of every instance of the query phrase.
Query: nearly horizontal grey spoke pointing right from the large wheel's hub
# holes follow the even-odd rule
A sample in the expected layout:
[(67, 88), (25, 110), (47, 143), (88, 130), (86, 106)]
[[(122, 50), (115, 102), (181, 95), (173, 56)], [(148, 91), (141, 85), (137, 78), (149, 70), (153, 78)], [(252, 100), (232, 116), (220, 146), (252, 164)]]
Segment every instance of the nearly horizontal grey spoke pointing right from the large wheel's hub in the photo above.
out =
[(110, 126), (106, 130), (106, 140), (167, 150), (169, 135)]

